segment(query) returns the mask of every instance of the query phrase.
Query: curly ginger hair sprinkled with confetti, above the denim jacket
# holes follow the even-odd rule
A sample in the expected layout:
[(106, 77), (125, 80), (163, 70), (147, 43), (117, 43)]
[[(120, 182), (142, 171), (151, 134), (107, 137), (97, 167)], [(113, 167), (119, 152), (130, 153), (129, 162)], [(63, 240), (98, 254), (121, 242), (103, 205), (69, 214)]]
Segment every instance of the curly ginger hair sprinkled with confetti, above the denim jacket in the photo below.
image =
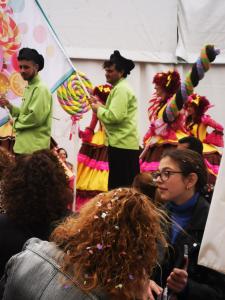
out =
[(162, 215), (132, 188), (97, 195), (51, 235), (65, 253), (63, 270), (84, 291), (102, 288), (116, 299), (142, 299), (165, 244)]

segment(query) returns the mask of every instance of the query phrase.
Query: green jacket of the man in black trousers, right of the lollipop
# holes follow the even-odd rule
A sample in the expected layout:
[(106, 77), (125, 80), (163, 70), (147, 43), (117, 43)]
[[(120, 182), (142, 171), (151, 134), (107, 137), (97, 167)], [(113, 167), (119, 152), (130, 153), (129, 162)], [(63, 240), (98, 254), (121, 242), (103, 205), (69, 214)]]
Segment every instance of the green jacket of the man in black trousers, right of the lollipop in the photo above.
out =
[(106, 128), (110, 146), (139, 149), (137, 99), (126, 79), (120, 79), (113, 87), (106, 105), (98, 108), (97, 116)]

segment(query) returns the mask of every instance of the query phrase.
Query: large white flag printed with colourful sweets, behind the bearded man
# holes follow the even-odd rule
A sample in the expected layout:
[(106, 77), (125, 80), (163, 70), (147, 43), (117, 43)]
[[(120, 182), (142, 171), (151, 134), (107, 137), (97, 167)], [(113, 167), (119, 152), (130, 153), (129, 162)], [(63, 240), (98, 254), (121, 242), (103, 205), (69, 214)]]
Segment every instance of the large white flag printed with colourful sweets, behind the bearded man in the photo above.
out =
[[(20, 48), (36, 49), (45, 58), (42, 80), (53, 93), (75, 71), (37, 0), (0, 1), (0, 96), (20, 105), (24, 82), (18, 73)], [(8, 121), (0, 109), (0, 126)]]

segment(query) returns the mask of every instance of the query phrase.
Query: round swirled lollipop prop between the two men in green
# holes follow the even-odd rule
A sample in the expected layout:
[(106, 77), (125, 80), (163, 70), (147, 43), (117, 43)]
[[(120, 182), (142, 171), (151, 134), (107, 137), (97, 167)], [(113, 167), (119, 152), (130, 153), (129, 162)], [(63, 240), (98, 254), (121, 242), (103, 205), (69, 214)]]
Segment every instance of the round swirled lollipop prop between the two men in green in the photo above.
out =
[(58, 101), (61, 107), (73, 116), (73, 121), (80, 120), (83, 114), (90, 109), (88, 95), (84, 87), (88, 92), (92, 92), (92, 83), (83, 73), (79, 72), (70, 76), (57, 89)]

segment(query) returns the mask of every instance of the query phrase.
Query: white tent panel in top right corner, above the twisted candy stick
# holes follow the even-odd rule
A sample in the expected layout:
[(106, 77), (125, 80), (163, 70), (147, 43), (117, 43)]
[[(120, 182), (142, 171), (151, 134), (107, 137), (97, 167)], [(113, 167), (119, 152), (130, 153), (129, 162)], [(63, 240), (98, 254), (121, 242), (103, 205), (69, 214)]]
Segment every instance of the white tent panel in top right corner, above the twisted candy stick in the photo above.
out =
[(179, 0), (178, 46), (176, 55), (193, 63), (199, 48), (214, 44), (222, 50), (216, 64), (225, 63), (225, 1), (224, 0)]

